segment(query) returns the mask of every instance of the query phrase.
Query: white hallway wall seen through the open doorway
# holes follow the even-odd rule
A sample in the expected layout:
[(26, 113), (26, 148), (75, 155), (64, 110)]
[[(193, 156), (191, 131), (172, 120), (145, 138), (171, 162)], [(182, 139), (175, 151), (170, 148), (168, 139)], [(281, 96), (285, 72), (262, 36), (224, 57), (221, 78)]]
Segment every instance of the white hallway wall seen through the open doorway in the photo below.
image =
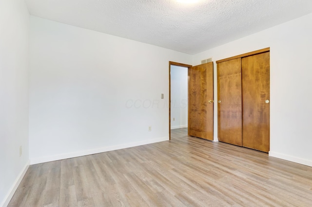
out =
[(188, 68), (171, 66), (171, 129), (188, 125)]

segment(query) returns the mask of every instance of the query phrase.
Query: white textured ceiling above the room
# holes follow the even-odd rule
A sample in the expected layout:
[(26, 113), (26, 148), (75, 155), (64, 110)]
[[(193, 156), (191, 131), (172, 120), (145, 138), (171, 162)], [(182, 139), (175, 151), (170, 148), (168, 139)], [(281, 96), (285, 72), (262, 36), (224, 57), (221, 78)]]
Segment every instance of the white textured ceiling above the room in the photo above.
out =
[(25, 0), (33, 16), (196, 54), (312, 13), (312, 0)]

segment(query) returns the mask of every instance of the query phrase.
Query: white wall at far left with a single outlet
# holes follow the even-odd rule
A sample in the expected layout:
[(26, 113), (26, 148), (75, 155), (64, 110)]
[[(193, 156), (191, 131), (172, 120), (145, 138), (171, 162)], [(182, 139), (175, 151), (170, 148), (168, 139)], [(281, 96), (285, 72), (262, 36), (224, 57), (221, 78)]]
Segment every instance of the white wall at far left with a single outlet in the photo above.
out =
[(28, 30), (24, 1), (1, 0), (0, 206), (8, 204), (28, 168)]

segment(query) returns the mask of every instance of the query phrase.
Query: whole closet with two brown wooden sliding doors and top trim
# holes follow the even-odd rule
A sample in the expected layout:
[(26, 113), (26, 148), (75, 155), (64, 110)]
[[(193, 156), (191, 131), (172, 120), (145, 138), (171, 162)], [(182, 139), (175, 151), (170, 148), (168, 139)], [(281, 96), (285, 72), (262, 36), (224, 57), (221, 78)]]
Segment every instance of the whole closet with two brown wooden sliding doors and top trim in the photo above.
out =
[(218, 140), (270, 150), (270, 48), (216, 61)]

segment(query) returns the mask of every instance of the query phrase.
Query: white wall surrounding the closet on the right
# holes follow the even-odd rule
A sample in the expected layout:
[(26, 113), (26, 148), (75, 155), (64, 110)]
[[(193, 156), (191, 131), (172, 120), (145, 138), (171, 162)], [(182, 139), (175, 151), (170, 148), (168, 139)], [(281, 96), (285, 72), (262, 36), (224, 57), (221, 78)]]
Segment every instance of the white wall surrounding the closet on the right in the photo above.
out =
[[(193, 65), (271, 48), (269, 155), (312, 166), (312, 14), (194, 55)], [(215, 64), (216, 80), (216, 64)], [(217, 99), (215, 81), (215, 100)], [(215, 123), (217, 123), (215, 102)], [(215, 124), (215, 139), (217, 124)]]

